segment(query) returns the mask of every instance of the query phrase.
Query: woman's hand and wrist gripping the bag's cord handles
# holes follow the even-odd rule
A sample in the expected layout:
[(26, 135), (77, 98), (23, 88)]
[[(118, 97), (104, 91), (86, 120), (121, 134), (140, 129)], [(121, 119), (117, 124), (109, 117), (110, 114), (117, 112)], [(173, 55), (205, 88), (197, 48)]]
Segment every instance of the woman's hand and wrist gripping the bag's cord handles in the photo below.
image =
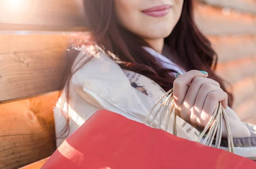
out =
[[(218, 82), (207, 77), (207, 72), (197, 70), (177, 76), (173, 83), (175, 113), (192, 126), (205, 128), (218, 103), (221, 102), (224, 109), (227, 108), (225, 112), (229, 118), (233, 137), (250, 136), (249, 129), (227, 106), (227, 93), (220, 88)], [(227, 138), (225, 125), (223, 125), (222, 137)]]

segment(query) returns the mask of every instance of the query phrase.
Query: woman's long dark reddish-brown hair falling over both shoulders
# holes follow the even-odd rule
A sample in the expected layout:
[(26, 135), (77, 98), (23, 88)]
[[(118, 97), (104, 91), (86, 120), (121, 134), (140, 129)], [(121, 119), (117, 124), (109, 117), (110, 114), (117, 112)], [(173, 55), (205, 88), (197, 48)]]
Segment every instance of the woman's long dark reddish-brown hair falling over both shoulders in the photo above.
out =
[[(122, 69), (139, 72), (158, 83), (168, 91), (173, 86), (172, 70), (165, 69), (158, 60), (146, 52), (142, 46), (150, 45), (123, 28), (117, 21), (113, 10), (113, 0), (83, 0), (91, 39), (82, 44), (97, 44), (107, 52), (115, 54), (114, 59)], [(227, 92), (223, 80), (215, 74), (217, 54), (212, 49), (209, 40), (198, 30), (193, 19), (193, 0), (184, 0), (181, 17), (172, 33), (164, 39), (172, 53), (172, 60), (186, 71), (203, 70), (209, 73), (209, 78), (217, 81)], [(81, 39), (80, 39), (81, 43)], [(91, 58), (91, 57), (88, 57)], [(79, 68), (89, 60), (80, 62)], [(78, 69), (79, 69), (78, 68)], [(73, 70), (71, 76), (78, 70)], [(69, 99), (69, 83), (67, 80), (66, 97)], [(233, 103), (233, 96), (227, 92), (228, 105)]]

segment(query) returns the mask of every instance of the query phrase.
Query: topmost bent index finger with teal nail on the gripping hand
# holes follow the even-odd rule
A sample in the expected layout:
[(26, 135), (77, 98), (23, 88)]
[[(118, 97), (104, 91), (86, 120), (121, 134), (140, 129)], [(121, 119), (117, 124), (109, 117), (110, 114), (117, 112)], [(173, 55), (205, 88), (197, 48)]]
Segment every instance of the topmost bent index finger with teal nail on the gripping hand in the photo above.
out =
[(207, 77), (207, 72), (201, 72), (197, 70), (191, 70), (186, 74), (180, 74), (173, 83), (173, 96), (175, 100), (175, 106), (179, 107), (183, 103), (188, 91), (188, 86), (192, 83), (195, 77)]

